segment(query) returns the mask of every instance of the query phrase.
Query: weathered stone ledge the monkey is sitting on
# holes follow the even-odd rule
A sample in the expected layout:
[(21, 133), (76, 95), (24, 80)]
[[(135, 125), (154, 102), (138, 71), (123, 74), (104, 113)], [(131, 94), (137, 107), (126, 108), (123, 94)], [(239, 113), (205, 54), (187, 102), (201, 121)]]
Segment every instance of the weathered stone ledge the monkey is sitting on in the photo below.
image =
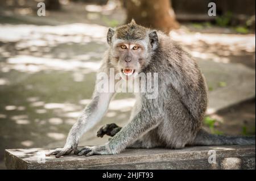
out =
[[(216, 163), (208, 163), (209, 150), (216, 151)], [(126, 149), (117, 155), (45, 157), (38, 163), (40, 151), (48, 150), (5, 150), (7, 169), (255, 169), (255, 145)]]

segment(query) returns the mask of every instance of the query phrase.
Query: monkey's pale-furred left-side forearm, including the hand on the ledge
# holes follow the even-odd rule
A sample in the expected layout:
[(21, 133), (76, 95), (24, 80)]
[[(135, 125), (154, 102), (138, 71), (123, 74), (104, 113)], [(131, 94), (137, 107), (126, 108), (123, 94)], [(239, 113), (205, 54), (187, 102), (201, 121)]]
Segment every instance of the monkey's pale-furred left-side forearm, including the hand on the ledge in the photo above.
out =
[(81, 116), (69, 131), (64, 148), (53, 150), (46, 155), (61, 157), (62, 155), (70, 154), (72, 151), (77, 153), (79, 138), (101, 120), (106, 110), (108, 110), (109, 102), (113, 95), (114, 93), (100, 93), (95, 90), (92, 101), (85, 107)]

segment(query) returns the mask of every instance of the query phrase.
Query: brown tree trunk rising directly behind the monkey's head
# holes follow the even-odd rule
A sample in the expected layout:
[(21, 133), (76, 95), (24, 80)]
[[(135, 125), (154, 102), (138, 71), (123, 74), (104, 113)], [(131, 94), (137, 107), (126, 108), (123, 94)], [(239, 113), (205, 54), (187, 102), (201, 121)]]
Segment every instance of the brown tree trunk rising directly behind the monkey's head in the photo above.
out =
[(127, 0), (127, 23), (134, 19), (142, 26), (166, 33), (178, 28), (170, 0)]

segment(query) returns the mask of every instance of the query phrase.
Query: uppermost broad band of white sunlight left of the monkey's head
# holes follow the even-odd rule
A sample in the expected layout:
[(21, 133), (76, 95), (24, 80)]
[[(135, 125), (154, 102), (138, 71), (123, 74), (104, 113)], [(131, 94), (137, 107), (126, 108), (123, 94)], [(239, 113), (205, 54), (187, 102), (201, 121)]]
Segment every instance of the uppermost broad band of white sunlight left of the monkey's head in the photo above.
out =
[[(105, 34), (107, 30), (106, 27), (97, 24), (82, 23), (64, 24), (59, 26), (0, 24), (0, 41), (28, 41), (42, 38), (47, 44), (55, 41), (59, 43), (82, 43), (82, 41), (89, 42), (96, 40), (105, 43)], [(84, 36), (88, 36), (89, 39), (83, 39)], [(36, 43), (36, 41), (33, 42)], [(34, 44), (30, 43), (28, 45)]]

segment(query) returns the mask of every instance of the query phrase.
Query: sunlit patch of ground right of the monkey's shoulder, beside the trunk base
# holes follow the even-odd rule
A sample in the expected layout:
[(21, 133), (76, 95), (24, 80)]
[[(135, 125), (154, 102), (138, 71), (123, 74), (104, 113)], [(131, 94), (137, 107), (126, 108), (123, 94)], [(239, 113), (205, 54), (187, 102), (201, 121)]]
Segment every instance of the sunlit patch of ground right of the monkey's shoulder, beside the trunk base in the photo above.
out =
[(170, 36), (183, 45), (193, 57), (202, 60), (228, 64), (232, 61), (232, 56), (245, 56), (246, 53), (253, 56), (255, 52), (254, 34), (195, 33), (186, 32), (181, 28), (171, 31)]

